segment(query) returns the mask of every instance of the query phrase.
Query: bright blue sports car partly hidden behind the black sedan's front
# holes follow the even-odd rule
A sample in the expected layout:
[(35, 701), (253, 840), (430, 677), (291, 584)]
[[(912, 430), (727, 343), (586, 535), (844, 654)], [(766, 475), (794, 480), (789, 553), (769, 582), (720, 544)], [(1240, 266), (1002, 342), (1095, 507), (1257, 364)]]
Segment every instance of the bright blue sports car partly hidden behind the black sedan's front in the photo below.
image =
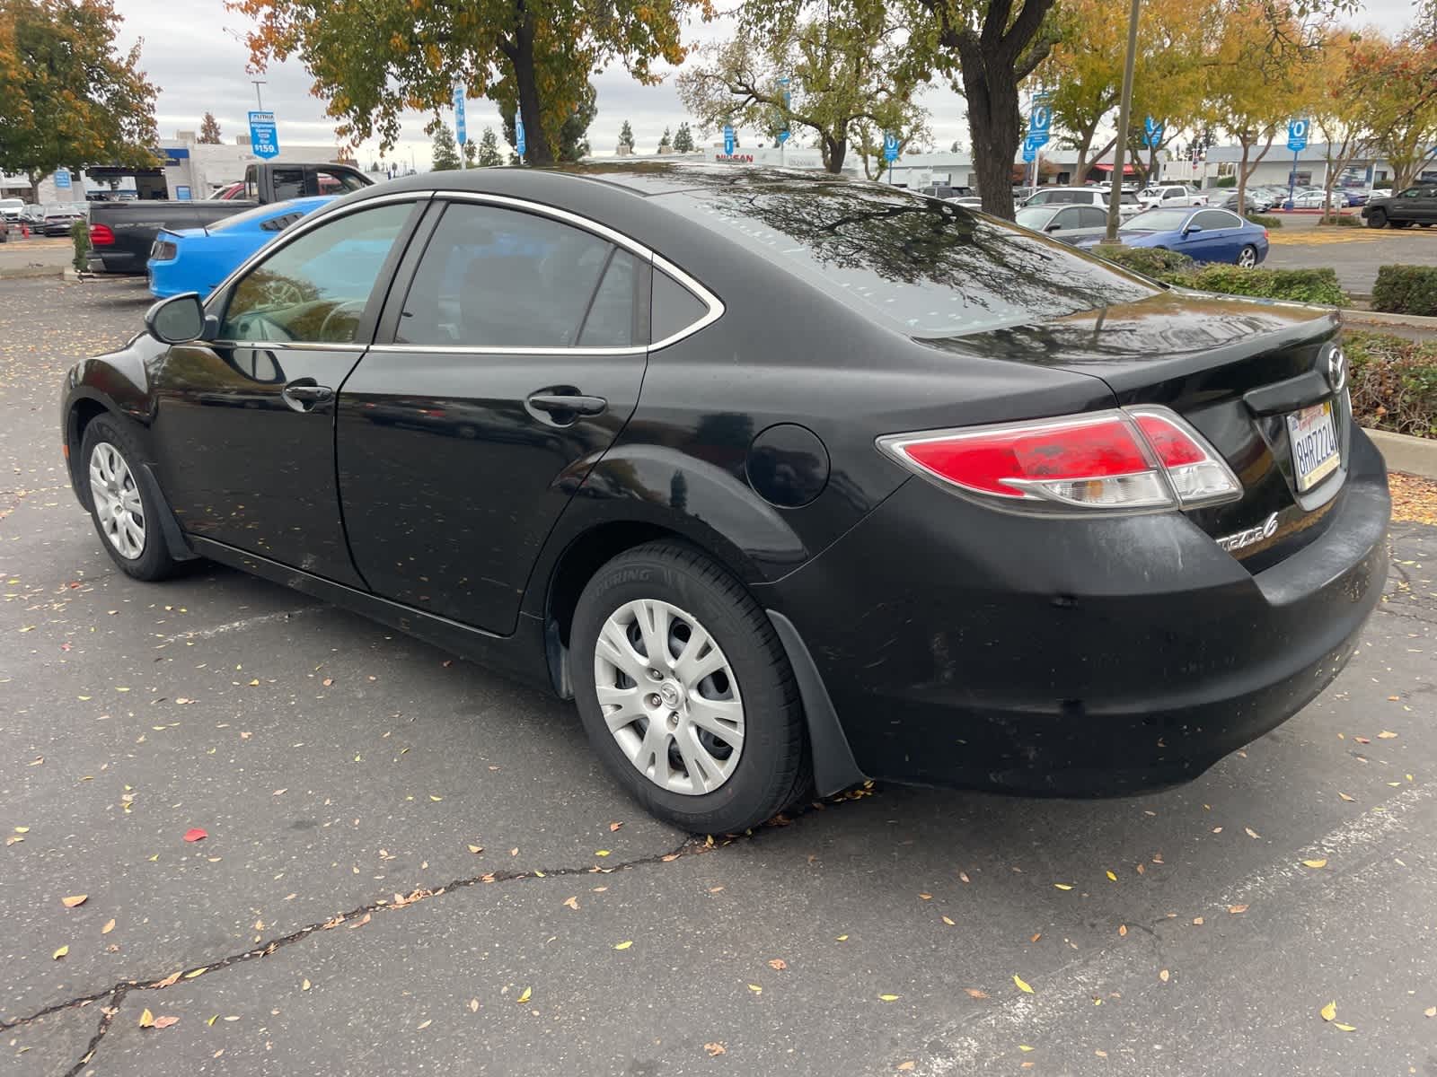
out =
[(161, 230), (149, 248), (149, 292), (160, 299), (181, 292), (207, 296), (280, 231), (333, 200), (335, 195), (290, 198), (237, 213), (208, 228)]

